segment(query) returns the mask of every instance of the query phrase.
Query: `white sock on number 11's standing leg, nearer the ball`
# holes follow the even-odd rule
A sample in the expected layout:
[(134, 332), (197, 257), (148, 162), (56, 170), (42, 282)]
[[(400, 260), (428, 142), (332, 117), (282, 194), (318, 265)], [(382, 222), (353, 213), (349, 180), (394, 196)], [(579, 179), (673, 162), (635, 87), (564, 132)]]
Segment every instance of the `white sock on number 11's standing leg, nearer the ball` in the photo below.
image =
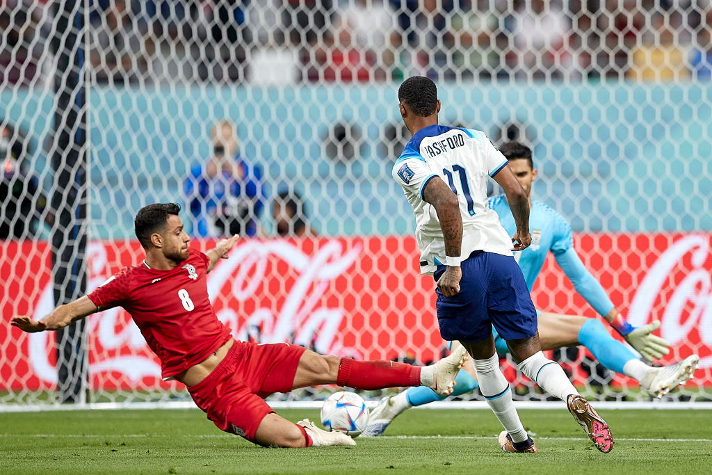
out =
[(524, 442), (529, 435), (524, 430), (517, 410), (512, 402), (509, 382), (499, 368), (499, 357), (495, 353), (487, 360), (473, 360), (477, 372), (480, 392), (487, 400), (492, 412), (509, 432), (513, 442)]

